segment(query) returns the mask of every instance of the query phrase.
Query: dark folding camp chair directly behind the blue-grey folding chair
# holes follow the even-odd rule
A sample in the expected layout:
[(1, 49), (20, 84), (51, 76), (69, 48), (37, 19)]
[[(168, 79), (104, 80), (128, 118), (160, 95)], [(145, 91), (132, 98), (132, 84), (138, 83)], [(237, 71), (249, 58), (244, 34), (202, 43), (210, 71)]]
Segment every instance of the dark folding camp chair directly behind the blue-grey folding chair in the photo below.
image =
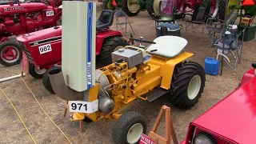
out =
[(224, 21), (218, 18), (208, 18), (206, 23), (209, 22), (209, 25), (206, 26), (206, 30), (208, 31), (209, 37), (207, 39), (212, 38), (212, 36), (215, 37), (216, 33), (221, 35), (222, 32), (225, 33), (226, 29), (231, 28), (230, 26), (234, 24), (237, 18), (238, 12), (235, 10), (231, 10), (230, 14), (227, 15), (227, 18)]

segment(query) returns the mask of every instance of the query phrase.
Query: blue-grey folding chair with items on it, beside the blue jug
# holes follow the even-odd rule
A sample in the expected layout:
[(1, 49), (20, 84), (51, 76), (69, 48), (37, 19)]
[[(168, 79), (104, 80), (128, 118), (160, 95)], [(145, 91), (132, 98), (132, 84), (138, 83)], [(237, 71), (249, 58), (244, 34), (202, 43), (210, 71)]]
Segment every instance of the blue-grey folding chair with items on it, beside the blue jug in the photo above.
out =
[[(235, 69), (238, 62), (241, 62), (242, 58), (242, 42), (244, 38), (244, 32), (246, 28), (241, 30), (238, 34), (231, 34), (229, 31), (226, 31), (225, 37), (221, 39), (214, 39), (213, 47), (215, 50), (215, 54), (218, 56), (222, 56), (222, 66), (221, 66), (221, 74), (223, 68), (223, 60), (230, 66), (232, 70)], [(238, 38), (242, 36), (242, 41), (239, 42)], [(234, 58), (234, 65), (230, 64), (230, 58), (228, 58), (228, 54), (231, 54)]]

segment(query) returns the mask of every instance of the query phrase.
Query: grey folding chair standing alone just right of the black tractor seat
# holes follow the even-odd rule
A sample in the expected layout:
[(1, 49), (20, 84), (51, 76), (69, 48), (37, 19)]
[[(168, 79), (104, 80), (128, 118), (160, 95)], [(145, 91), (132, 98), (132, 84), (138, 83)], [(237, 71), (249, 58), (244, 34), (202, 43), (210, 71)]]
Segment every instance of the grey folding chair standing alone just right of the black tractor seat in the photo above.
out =
[[(114, 16), (115, 16), (115, 18), (116, 18), (115, 25), (117, 26), (117, 30), (118, 30), (118, 26), (120, 26), (121, 29), (122, 29), (122, 25), (126, 25), (126, 30), (127, 30), (127, 24), (130, 25), (130, 23), (132, 23), (132, 22), (129, 21), (128, 16), (126, 15), (126, 13), (125, 13), (124, 11), (122, 11), (122, 10), (116, 11), (115, 14), (114, 14)], [(119, 21), (119, 18), (125, 18), (125, 21), (124, 21), (124, 22), (120, 22), (120, 21)], [(131, 25), (130, 25), (130, 29), (131, 29), (131, 30), (133, 31), (133, 33), (134, 33), (134, 30), (133, 30), (133, 28), (132, 28)], [(126, 34), (126, 33), (124, 33), (123, 30), (122, 30), (122, 33), (123, 33), (123, 34)], [(134, 34), (135, 34), (135, 33), (134, 33)]]

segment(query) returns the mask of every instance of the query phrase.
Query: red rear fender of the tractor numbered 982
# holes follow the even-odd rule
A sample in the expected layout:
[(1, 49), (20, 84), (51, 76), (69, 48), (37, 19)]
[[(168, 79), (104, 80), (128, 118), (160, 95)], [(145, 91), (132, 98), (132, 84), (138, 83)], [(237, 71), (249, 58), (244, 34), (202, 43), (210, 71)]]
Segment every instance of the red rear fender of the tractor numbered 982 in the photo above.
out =
[(106, 41), (106, 39), (112, 37), (122, 37), (122, 33), (120, 31), (115, 30), (106, 30), (98, 32), (96, 36), (96, 55), (101, 54), (102, 45)]

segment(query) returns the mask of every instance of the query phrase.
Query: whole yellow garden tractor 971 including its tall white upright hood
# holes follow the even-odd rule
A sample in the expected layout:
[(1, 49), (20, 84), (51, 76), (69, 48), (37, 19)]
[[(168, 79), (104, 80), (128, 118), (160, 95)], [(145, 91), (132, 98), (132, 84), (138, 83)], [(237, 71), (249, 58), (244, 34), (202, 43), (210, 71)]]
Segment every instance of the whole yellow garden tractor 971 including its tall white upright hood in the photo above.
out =
[[(153, 42), (130, 38), (140, 45), (118, 48), (112, 64), (95, 70), (94, 8), (93, 2), (63, 1), (62, 68), (50, 70), (51, 86), (68, 102), (70, 121), (114, 120), (114, 143), (136, 143), (146, 133), (146, 118), (134, 111), (122, 114), (126, 106), (137, 99), (152, 102), (167, 96), (174, 106), (189, 109), (202, 95), (206, 74), (197, 62), (186, 62), (193, 54), (183, 52), (187, 41), (176, 36)], [(81, 11), (69, 17), (74, 9)], [(70, 30), (78, 19), (78, 30)]]

